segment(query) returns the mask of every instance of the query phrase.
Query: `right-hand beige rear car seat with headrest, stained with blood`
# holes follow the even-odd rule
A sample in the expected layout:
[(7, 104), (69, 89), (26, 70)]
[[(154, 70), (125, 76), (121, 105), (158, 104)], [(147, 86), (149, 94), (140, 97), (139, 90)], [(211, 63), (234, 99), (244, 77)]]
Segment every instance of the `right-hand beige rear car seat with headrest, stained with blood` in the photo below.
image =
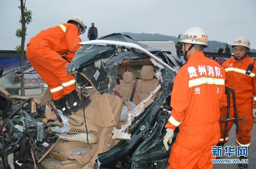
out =
[(138, 80), (132, 102), (138, 105), (147, 98), (159, 85), (158, 79), (153, 79), (156, 70), (153, 66), (143, 66), (141, 69), (141, 79)]

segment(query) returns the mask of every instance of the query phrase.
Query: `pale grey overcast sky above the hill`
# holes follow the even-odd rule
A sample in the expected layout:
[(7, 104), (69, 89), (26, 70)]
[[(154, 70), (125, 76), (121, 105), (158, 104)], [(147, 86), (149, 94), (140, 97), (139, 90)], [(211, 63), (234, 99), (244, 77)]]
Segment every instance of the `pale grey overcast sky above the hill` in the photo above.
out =
[[(15, 50), (19, 24), (18, 0), (0, 2), (0, 50)], [(118, 32), (160, 33), (178, 36), (190, 27), (201, 27), (208, 40), (233, 43), (239, 36), (256, 49), (255, 0), (27, 0), (32, 22), (27, 25), (25, 45), (43, 29), (79, 16), (88, 28), (95, 23), (98, 36)], [(87, 41), (86, 33), (80, 35)]]

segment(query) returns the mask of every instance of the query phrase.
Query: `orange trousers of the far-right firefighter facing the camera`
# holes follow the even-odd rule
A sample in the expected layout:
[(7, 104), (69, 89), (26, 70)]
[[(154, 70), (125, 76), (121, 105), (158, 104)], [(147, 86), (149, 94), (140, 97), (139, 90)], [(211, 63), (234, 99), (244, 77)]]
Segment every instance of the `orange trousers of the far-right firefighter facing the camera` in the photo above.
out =
[[(252, 116), (252, 109), (253, 104), (252, 103), (245, 103), (243, 105), (237, 105), (237, 115), (238, 117), (242, 117), (242, 119), (238, 120), (239, 123), (239, 129), (240, 131), (236, 130), (236, 137), (237, 145), (247, 145), (249, 146), (250, 140), (251, 140), (251, 130), (253, 127), (253, 116)], [(224, 106), (220, 110), (220, 120), (225, 119), (227, 114), (227, 106)], [(233, 106), (230, 108), (230, 114), (229, 118), (234, 118), (234, 110)], [(227, 123), (227, 134), (226, 138), (229, 136), (229, 131), (233, 125), (233, 121), (228, 121)], [(223, 143), (223, 136), (224, 136), (224, 128), (225, 128), (225, 122), (220, 122), (220, 142)], [(228, 142), (228, 140), (226, 140)]]

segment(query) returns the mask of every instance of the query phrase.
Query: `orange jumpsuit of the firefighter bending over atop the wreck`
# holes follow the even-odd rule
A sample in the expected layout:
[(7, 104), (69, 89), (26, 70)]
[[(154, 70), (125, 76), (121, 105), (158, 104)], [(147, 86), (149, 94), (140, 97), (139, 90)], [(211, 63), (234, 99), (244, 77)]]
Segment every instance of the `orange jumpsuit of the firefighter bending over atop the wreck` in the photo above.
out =
[[(31, 38), (26, 50), (26, 57), (37, 73), (48, 84), (53, 100), (58, 100), (76, 89), (75, 77), (67, 74), (68, 62), (80, 48), (78, 28), (74, 24), (60, 24), (42, 30)], [(68, 54), (65, 52), (69, 51)]]

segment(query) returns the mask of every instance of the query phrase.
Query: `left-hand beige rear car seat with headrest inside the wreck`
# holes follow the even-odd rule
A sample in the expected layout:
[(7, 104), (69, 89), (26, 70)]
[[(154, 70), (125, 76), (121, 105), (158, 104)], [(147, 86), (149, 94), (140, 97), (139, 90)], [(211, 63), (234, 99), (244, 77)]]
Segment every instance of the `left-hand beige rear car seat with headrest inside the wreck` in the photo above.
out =
[(115, 84), (114, 88), (117, 89), (123, 97), (130, 100), (135, 79), (136, 77), (134, 73), (125, 72), (123, 73), (123, 80), (119, 80), (120, 84)]

